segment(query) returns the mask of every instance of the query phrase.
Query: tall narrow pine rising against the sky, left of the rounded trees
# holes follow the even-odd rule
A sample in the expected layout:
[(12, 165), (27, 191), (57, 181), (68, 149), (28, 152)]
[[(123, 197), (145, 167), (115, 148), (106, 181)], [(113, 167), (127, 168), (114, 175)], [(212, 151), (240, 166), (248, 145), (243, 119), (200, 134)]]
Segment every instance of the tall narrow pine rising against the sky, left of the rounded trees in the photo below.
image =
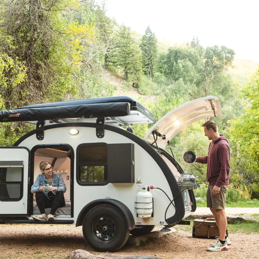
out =
[(153, 78), (155, 72), (155, 63), (157, 58), (157, 39), (149, 26), (143, 35), (140, 49), (142, 50), (142, 67), (145, 75)]

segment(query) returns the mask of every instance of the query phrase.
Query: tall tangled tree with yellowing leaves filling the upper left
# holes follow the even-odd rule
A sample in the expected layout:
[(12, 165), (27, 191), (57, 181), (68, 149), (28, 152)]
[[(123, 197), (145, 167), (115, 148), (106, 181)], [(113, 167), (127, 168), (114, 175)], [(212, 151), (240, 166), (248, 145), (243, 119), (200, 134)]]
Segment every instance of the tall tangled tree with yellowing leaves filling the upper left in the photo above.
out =
[[(113, 87), (101, 80), (106, 46), (94, 18), (86, 1), (1, 1), (0, 92), (6, 109), (112, 95)], [(0, 127), (1, 145), (31, 130), (26, 123)]]

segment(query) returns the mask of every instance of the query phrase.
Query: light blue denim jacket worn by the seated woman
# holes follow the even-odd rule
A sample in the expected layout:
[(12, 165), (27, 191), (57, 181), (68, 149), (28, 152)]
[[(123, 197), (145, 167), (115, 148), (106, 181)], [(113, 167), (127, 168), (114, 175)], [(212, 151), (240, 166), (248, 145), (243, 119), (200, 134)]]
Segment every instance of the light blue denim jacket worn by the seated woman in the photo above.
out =
[[(67, 188), (66, 185), (63, 181), (63, 178), (61, 176), (61, 174), (58, 173), (52, 173), (53, 174), (53, 179), (50, 183), (51, 186), (53, 187), (57, 187), (57, 191), (62, 191), (62, 192), (66, 192)], [(34, 184), (32, 185), (31, 188), (31, 192), (40, 192), (40, 186), (46, 186), (48, 183), (45, 174), (40, 174), (37, 176)], [(57, 191), (52, 191), (53, 194), (55, 195)], [(42, 191), (45, 195), (47, 195), (47, 193), (45, 191)]]

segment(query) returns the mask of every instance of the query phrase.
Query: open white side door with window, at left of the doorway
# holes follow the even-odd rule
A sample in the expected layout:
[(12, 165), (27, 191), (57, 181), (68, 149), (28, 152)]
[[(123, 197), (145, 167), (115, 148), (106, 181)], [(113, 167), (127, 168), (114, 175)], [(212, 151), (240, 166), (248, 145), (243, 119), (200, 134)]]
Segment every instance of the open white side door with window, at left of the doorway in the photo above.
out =
[(30, 150), (0, 147), (0, 216), (28, 216)]

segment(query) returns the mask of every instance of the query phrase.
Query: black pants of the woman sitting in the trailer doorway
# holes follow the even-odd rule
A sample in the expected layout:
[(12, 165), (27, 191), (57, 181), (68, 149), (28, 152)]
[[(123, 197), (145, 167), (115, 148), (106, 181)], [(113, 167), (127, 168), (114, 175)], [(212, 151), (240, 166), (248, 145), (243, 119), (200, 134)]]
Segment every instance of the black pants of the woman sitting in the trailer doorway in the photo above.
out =
[(45, 213), (45, 208), (51, 208), (50, 214), (54, 215), (58, 208), (66, 206), (63, 192), (56, 192), (56, 195), (54, 195), (50, 191), (47, 197), (40, 191), (35, 193), (35, 199), (41, 214)]

